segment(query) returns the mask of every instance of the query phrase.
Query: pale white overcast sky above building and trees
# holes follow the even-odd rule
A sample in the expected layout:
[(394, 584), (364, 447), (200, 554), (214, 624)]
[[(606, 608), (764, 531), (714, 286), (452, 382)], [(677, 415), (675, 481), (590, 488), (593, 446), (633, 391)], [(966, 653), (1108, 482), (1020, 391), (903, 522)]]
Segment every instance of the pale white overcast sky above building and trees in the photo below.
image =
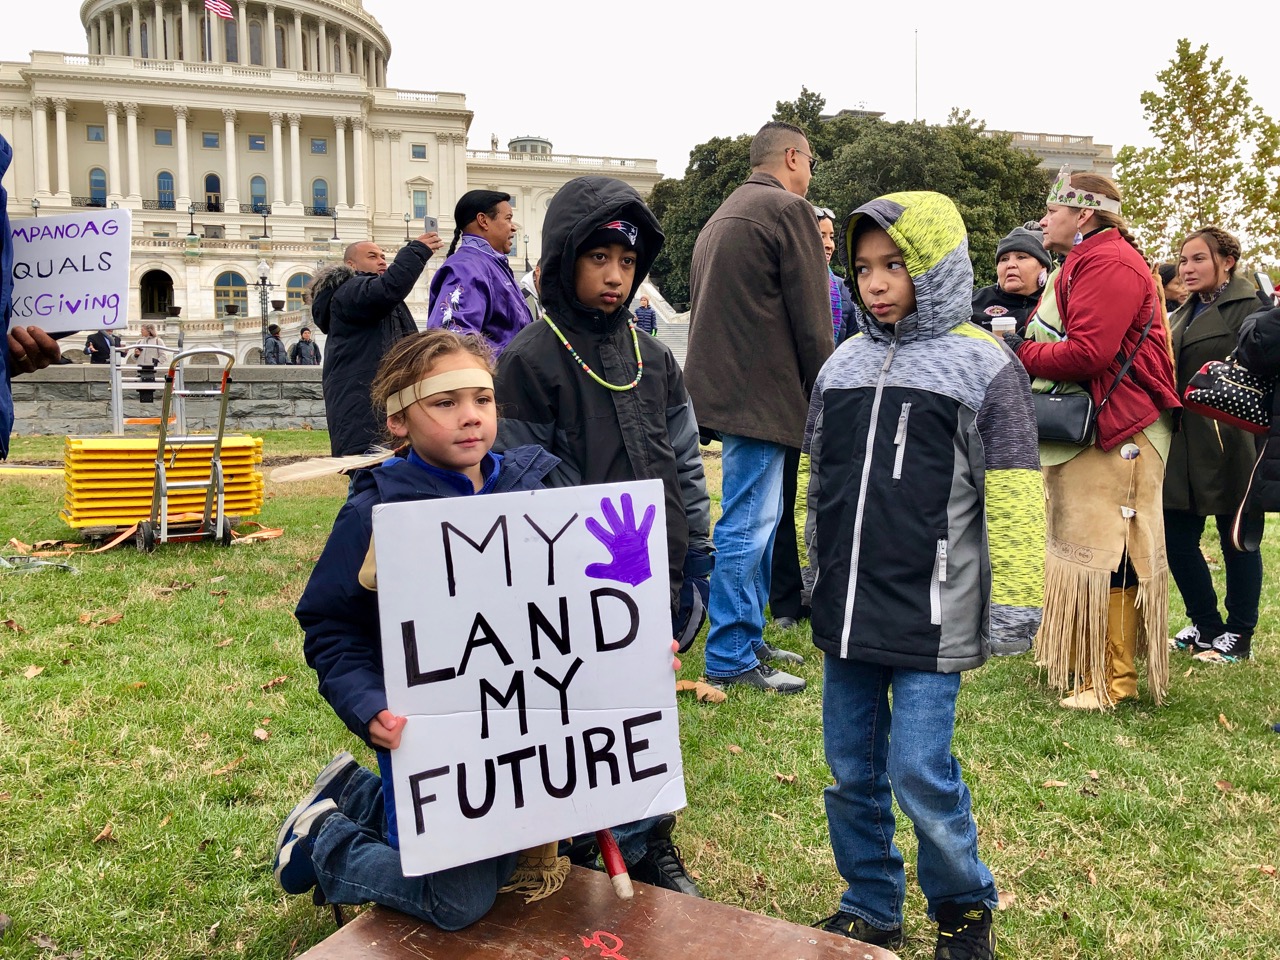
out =
[[(4, 5), (0, 60), (86, 51), (79, 0)], [(684, 174), (692, 146), (754, 132), (801, 86), (822, 93), (828, 111), (865, 105), (890, 120), (942, 122), (960, 106), (992, 128), (1146, 145), (1138, 97), (1179, 37), (1208, 44), (1280, 114), (1270, 3), (1123, 1), (1102, 19), (1087, 6), (1029, 0), (934, 1), (915, 5), (919, 20), (899, 17), (906, 6), (785, 4), (749, 14), (698, 0), (365, 0), (392, 41), (388, 83), (466, 93), (470, 147), (488, 148), (492, 133), (503, 145), (538, 134), (561, 154), (657, 159), (668, 177)]]

